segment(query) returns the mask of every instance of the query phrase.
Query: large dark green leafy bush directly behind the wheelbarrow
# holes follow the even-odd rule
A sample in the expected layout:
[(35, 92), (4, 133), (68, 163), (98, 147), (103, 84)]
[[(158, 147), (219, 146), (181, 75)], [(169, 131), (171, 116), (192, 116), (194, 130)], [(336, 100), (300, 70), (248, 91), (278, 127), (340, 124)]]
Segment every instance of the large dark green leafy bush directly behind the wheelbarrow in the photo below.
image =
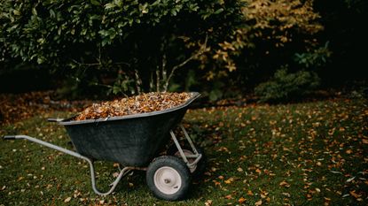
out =
[[(79, 74), (74, 79), (81, 82), (98, 80), (91, 85), (114, 78), (106, 90), (128, 94), (131, 88), (168, 89), (171, 73), (223, 42), (244, 18), (239, 0), (0, 4), (0, 63), (13, 58), (55, 71), (80, 70), (64, 73)], [(84, 77), (88, 70), (98, 76)]]

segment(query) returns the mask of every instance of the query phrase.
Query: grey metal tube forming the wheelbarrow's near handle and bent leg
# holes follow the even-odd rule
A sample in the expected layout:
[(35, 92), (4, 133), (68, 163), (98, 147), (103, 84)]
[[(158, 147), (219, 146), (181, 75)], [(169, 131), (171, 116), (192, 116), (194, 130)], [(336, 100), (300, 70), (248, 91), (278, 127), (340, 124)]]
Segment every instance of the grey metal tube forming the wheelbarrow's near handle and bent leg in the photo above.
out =
[(60, 148), (59, 146), (53, 145), (49, 142), (40, 141), (38, 139), (35, 139), (35, 138), (27, 136), (27, 135), (6, 135), (6, 136), (4, 136), (4, 140), (20, 140), (20, 139), (25, 139), (27, 141), (33, 141), (35, 143), (46, 146), (48, 148), (55, 149), (55, 150), (58, 150), (60, 152), (63, 152), (63, 153), (66, 153), (68, 155), (75, 156), (75, 157), (78, 157), (78, 158), (81, 158), (81, 159), (84, 159), (85, 161), (87, 161), (90, 164), (90, 180), (91, 180), (91, 183), (92, 183), (92, 189), (97, 195), (109, 195), (109, 194), (111, 194), (114, 191), (115, 187), (118, 185), (121, 178), (125, 174), (127, 174), (130, 170), (137, 169), (135, 167), (124, 167), (121, 170), (121, 172), (119, 173), (118, 177), (114, 180), (114, 182), (112, 184), (110, 184), (110, 186), (111, 186), (110, 190), (107, 191), (106, 193), (103, 193), (103, 192), (98, 191), (98, 188), (96, 187), (95, 168), (94, 168), (94, 165), (93, 165), (93, 161), (89, 157), (82, 156), (81, 154), (79, 154), (77, 152), (71, 151), (69, 149)]

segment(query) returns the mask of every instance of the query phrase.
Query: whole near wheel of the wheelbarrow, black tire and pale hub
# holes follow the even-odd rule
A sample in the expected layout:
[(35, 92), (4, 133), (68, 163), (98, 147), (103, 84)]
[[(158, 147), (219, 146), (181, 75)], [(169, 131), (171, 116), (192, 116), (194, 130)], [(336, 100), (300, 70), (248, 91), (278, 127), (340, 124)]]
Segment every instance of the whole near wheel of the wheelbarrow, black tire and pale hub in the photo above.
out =
[(158, 198), (183, 200), (191, 184), (191, 172), (176, 156), (160, 156), (153, 160), (146, 172), (147, 186)]

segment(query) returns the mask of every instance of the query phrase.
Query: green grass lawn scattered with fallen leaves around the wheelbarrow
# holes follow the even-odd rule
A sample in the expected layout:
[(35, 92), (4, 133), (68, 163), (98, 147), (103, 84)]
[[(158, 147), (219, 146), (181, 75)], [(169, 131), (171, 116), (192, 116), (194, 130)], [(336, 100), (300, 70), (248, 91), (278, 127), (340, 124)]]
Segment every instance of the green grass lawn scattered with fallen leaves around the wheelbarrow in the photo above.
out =
[[(0, 205), (367, 205), (368, 101), (332, 99), (188, 111), (184, 125), (207, 154), (207, 172), (187, 200), (151, 195), (145, 172), (95, 195), (88, 164), (29, 141), (0, 141)], [(27, 134), (72, 149), (64, 127), (45, 113), (0, 135)], [(98, 162), (106, 191), (117, 168)]]

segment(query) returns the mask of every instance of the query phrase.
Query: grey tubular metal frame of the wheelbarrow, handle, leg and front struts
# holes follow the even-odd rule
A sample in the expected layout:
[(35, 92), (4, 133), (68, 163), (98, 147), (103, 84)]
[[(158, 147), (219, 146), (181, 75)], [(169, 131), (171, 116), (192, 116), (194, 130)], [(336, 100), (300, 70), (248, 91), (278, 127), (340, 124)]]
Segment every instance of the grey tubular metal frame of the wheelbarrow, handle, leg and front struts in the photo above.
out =
[[(58, 119), (58, 121), (60, 121), (60, 120), (62, 120), (62, 119)], [(56, 121), (56, 120), (54, 120), (54, 121)], [(178, 149), (178, 151), (180, 153), (180, 156), (183, 158), (184, 163), (188, 166), (188, 168), (191, 169), (191, 168), (195, 167), (195, 165), (200, 161), (202, 155), (195, 148), (195, 146), (194, 146), (189, 134), (186, 132), (184, 126), (180, 125), (179, 127), (183, 131), (186, 141), (188, 141), (190, 147), (192, 148), (192, 151), (193, 151), (192, 155), (185, 155), (184, 154), (184, 151), (183, 151), (182, 147), (180, 146), (179, 141), (177, 140), (176, 135), (174, 134), (173, 130), (170, 130), (169, 133), (171, 135), (172, 140), (174, 141), (174, 143), (176, 145), (176, 148)], [(75, 157), (78, 157), (78, 158), (81, 158), (81, 159), (87, 161), (88, 164), (90, 164), (90, 179), (91, 179), (92, 188), (93, 188), (93, 191), (98, 195), (109, 195), (112, 192), (114, 192), (114, 189), (118, 185), (118, 183), (120, 182), (121, 178), (124, 175), (128, 174), (129, 171), (132, 171), (132, 170), (143, 170), (143, 171), (145, 171), (147, 169), (147, 167), (132, 167), (132, 166), (123, 167), (121, 169), (121, 172), (117, 176), (117, 178), (114, 180), (114, 182), (110, 184), (111, 188), (106, 193), (103, 193), (103, 192), (100, 192), (98, 190), (97, 186), (96, 186), (96, 176), (95, 176), (94, 164), (93, 164), (93, 160), (91, 160), (89, 157), (82, 156), (81, 154), (79, 154), (77, 152), (74, 152), (72, 150), (64, 149), (64, 148), (61, 148), (57, 145), (51, 144), (51, 143), (46, 142), (46, 141), (40, 141), (40, 140), (38, 140), (34, 137), (30, 137), (30, 136), (27, 136), (27, 135), (5, 135), (3, 138), (4, 138), (4, 140), (25, 139), (27, 141), (33, 141), (33, 142), (41, 144), (45, 147), (55, 149), (55, 150), (58, 150), (60, 152), (63, 152), (63, 153), (66, 153), (68, 155), (75, 156)], [(195, 158), (195, 159), (194, 159), (194, 161), (190, 162), (188, 160), (189, 158)]]

